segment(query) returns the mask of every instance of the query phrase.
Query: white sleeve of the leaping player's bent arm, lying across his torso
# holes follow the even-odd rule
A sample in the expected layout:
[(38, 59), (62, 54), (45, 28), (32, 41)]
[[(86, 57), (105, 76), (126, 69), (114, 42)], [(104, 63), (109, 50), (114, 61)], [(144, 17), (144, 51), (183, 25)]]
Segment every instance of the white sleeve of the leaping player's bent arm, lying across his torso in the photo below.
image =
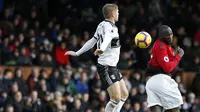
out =
[(105, 51), (105, 49), (108, 47), (109, 43), (111, 42), (111, 40), (113, 39), (113, 28), (111, 25), (105, 25), (104, 26), (104, 39), (103, 39), (103, 43), (100, 46), (100, 49), (102, 51)]

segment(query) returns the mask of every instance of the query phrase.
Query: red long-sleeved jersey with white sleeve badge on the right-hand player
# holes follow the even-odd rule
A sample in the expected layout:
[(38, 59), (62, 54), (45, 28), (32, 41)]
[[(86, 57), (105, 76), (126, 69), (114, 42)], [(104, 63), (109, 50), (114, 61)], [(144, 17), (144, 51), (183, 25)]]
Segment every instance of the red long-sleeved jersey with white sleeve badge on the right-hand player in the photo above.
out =
[(158, 39), (153, 45), (152, 56), (148, 65), (170, 73), (176, 68), (180, 60), (181, 57), (175, 56), (174, 49), (170, 45)]

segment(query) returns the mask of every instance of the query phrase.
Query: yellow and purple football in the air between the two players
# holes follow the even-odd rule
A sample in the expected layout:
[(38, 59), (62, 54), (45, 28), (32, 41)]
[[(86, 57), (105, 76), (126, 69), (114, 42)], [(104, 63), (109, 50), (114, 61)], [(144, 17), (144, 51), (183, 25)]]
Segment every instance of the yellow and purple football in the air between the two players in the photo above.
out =
[(145, 31), (141, 31), (135, 36), (135, 44), (139, 48), (147, 48), (151, 44), (151, 40), (151, 36)]

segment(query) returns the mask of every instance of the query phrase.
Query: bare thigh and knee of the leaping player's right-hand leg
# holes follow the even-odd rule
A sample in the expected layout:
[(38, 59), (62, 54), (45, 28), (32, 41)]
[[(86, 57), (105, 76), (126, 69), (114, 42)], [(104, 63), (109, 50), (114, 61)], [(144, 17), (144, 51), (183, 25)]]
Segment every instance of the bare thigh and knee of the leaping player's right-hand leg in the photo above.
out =
[(129, 93), (128, 93), (128, 89), (127, 89), (126, 84), (123, 79), (121, 79), (119, 81), (119, 85), (120, 85), (121, 97), (124, 99), (127, 99)]

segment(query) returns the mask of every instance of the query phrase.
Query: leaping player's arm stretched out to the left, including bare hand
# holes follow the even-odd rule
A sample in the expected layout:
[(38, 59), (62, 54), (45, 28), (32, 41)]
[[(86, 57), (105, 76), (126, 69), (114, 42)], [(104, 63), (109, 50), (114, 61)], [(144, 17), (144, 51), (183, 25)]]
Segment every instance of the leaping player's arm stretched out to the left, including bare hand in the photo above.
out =
[(90, 40), (88, 40), (81, 49), (79, 49), (77, 52), (75, 51), (67, 51), (65, 53), (65, 55), (71, 55), (71, 56), (79, 56), (85, 52), (87, 52), (89, 49), (91, 49), (92, 47), (94, 47), (94, 45), (97, 43), (97, 39), (95, 39), (94, 37), (91, 38)]

